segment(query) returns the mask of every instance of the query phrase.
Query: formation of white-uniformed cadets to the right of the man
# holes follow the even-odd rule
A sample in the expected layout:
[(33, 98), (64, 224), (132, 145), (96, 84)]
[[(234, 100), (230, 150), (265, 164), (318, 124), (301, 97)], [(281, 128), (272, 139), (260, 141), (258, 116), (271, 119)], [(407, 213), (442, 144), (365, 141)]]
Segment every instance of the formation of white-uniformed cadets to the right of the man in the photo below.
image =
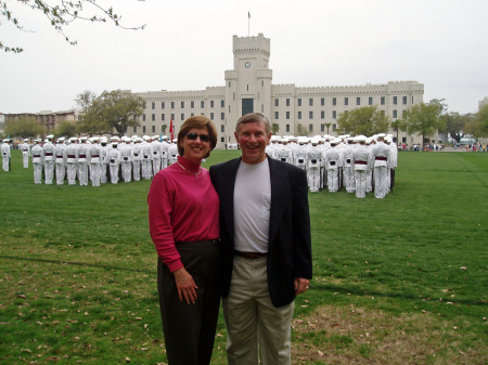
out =
[(268, 156), (293, 164), (307, 172), (310, 192), (328, 188), (364, 198), (374, 192), (384, 198), (393, 192), (398, 148), (391, 135), (331, 135), (304, 138), (271, 136)]

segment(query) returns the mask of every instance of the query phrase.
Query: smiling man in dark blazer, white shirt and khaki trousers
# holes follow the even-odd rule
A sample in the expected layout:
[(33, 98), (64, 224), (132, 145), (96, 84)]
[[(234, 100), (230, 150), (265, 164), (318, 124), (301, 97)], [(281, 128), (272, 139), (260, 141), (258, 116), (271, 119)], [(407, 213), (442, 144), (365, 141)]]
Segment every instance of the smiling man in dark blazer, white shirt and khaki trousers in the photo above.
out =
[(228, 362), (258, 364), (260, 354), (262, 364), (286, 365), (294, 300), (312, 276), (307, 175), (268, 158), (264, 115), (241, 117), (234, 135), (242, 157), (210, 168), (220, 197)]

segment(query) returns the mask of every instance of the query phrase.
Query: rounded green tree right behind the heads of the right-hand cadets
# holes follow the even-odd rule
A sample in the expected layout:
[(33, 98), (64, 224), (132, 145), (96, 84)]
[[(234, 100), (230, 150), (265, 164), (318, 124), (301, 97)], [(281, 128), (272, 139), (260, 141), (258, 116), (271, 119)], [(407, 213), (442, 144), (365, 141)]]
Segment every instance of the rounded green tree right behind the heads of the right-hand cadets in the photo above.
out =
[(388, 130), (389, 118), (373, 105), (341, 114), (337, 123), (346, 133), (373, 135)]

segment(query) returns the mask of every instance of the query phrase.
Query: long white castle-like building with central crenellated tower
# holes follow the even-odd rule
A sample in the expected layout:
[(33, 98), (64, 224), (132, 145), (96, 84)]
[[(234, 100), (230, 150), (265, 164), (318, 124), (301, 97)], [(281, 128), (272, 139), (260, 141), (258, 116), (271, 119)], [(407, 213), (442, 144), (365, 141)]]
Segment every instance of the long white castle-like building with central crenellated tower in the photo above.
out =
[[(196, 91), (149, 91), (137, 93), (146, 101), (136, 134), (160, 134), (170, 120), (175, 135), (182, 122), (203, 114), (216, 123), (217, 147), (234, 142), (237, 119), (251, 112), (266, 115), (271, 125), (279, 125), (279, 135), (297, 134), (298, 125), (309, 135), (342, 134), (337, 118), (354, 108), (377, 105), (391, 120), (423, 101), (424, 86), (416, 81), (388, 81), (384, 84), (348, 87), (297, 88), (295, 84), (273, 84), (268, 68), (270, 40), (257, 37), (233, 37), (234, 67), (224, 71), (226, 84)], [(131, 133), (132, 131), (129, 131)], [(390, 131), (396, 138), (396, 132)], [(420, 143), (421, 136), (400, 132), (398, 142)], [(436, 142), (433, 140), (433, 142)]]

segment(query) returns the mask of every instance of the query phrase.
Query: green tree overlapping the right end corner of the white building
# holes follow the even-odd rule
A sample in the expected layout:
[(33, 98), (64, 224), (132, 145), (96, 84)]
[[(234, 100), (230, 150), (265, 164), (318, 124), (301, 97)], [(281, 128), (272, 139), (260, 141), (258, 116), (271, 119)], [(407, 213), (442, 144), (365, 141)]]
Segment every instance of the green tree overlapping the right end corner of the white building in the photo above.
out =
[(419, 133), (422, 135), (422, 149), (425, 139), (442, 127), (440, 118), (446, 108), (444, 100), (433, 99), (427, 104), (420, 103), (412, 105), (406, 110), (404, 122), (409, 134)]

